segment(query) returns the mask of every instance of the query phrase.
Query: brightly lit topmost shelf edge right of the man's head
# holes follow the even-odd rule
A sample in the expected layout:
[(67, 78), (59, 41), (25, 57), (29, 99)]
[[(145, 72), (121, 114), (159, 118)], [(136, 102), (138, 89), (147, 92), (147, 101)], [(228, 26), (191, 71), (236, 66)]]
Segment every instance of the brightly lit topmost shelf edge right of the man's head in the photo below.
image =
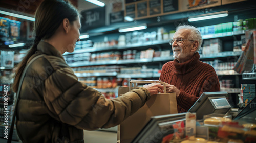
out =
[(232, 32), (217, 33), (217, 34), (209, 34), (209, 35), (202, 35), (202, 39), (221, 38), (221, 37), (242, 35), (242, 34), (245, 34), (244, 30), (234, 31), (234, 32), (232, 31)]

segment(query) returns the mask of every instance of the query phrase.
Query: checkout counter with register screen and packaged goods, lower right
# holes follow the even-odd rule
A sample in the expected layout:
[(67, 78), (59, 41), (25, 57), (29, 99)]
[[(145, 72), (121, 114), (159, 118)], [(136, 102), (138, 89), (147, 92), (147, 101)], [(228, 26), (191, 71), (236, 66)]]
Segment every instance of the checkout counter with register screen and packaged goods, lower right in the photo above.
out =
[(233, 117), (226, 94), (205, 92), (188, 113), (151, 117), (132, 142), (255, 142), (256, 99)]

